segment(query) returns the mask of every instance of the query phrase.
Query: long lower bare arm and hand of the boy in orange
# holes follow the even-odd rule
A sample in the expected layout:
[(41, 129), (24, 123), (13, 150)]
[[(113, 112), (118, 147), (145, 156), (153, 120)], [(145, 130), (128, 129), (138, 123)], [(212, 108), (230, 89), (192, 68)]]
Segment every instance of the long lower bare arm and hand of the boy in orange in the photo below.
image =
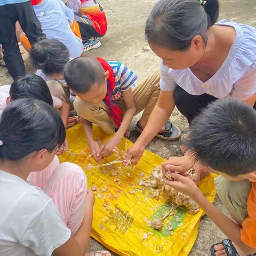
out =
[(173, 187), (175, 190), (193, 198), (201, 206), (205, 213), (212, 219), (221, 231), (244, 253), (252, 254), (256, 249), (245, 245), (241, 240), (241, 226), (229, 219), (225, 214), (211, 204), (198, 189), (195, 182), (178, 173), (172, 173), (174, 181), (164, 178), (166, 185)]

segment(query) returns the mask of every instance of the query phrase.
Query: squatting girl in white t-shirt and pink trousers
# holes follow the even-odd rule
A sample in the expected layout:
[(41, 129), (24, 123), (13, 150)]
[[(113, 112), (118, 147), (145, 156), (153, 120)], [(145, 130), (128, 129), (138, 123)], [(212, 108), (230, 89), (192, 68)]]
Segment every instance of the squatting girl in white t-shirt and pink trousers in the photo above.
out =
[[(86, 176), (73, 163), (47, 168), (64, 140), (59, 115), (43, 101), (19, 99), (3, 111), (1, 255), (85, 255), (94, 204), (92, 191), (86, 189)], [(49, 176), (42, 182), (34, 175), (42, 189), (26, 182), (31, 172), (41, 172), (40, 178)]]

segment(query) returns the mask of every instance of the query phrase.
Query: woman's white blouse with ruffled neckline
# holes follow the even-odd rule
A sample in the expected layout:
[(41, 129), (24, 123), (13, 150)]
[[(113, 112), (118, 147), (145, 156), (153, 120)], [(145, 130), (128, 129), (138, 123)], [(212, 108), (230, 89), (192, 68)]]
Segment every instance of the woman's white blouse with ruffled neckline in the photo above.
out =
[(190, 68), (174, 70), (164, 66), (161, 61), (161, 90), (173, 91), (179, 85), (191, 95), (206, 93), (218, 99), (231, 96), (241, 100), (247, 100), (256, 93), (256, 29), (226, 20), (221, 20), (217, 25), (236, 30), (235, 41), (217, 73), (202, 82)]

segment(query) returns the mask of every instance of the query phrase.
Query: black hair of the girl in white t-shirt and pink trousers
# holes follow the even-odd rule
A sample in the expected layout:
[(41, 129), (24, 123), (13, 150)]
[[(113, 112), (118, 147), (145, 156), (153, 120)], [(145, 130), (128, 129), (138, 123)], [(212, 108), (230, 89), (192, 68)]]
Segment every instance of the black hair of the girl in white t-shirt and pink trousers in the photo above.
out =
[(0, 118), (0, 158), (19, 161), (42, 149), (51, 153), (65, 137), (63, 122), (49, 104), (35, 99), (15, 100)]

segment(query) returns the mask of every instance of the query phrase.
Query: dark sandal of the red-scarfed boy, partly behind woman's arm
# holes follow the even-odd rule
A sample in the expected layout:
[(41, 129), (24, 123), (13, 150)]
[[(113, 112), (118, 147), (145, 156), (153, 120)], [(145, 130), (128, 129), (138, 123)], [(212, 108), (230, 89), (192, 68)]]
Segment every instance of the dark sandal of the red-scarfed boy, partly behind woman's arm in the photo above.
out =
[[(162, 140), (177, 140), (180, 138), (180, 129), (173, 125), (170, 121), (170, 119), (166, 122), (164, 126), (165, 131), (164, 132), (158, 132), (156, 134), (156, 137)], [(143, 131), (141, 127), (139, 126), (139, 121), (137, 122), (135, 126), (135, 130), (139, 133)]]

